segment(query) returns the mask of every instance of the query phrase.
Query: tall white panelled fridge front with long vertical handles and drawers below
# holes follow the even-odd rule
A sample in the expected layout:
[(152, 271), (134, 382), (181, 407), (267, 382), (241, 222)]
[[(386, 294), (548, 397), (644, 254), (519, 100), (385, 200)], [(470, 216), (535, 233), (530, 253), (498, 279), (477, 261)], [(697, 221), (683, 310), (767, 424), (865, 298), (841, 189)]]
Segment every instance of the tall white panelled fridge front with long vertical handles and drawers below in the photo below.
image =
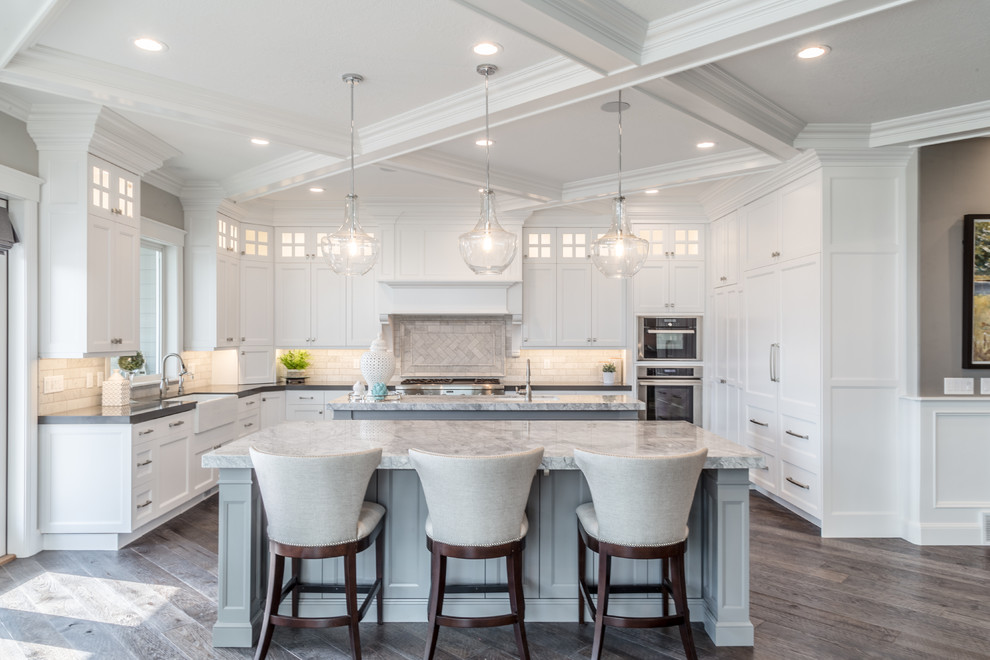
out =
[(747, 272), (746, 444), (768, 458), (751, 478), (821, 515), (821, 267), (818, 256)]

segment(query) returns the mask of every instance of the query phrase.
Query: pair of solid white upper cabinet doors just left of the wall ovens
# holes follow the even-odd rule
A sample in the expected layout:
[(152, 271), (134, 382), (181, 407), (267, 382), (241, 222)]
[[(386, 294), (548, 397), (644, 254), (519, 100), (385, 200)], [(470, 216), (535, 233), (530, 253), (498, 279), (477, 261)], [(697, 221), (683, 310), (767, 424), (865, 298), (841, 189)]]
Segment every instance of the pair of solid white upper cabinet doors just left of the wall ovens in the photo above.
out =
[(557, 346), (625, 346), (625, 281), (609, 279), (590, 261), (557, 265)]

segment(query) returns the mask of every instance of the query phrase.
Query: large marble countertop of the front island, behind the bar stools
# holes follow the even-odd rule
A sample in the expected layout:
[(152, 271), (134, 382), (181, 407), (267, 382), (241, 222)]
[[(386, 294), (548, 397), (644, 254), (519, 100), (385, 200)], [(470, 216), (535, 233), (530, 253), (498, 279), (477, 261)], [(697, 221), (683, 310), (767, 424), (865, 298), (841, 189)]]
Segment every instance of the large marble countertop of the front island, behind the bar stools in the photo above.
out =
[(203, 467), (249, 468), (252, 445), (291, 455), (337, 454), (382, 447), (380, 469), (411, 469), (410, 448), (492, 455), (544, 447), (542, 467), (576, 470), (574, 448), (621, 455), (679, 454), (708, 447), (706, 469), (761, 468), (765, 459), (687, 422), (427, 421), (287, 422), (203, 456)]

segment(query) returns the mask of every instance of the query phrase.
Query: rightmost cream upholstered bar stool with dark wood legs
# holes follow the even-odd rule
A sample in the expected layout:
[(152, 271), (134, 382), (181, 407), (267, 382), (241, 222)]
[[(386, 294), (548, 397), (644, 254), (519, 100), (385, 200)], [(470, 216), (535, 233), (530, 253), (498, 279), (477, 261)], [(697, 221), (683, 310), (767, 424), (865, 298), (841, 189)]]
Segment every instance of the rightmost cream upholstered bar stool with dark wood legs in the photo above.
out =
[[(574, 450), (574, 460), (591, 489), (591, 502), (577, 508), (578, 621), (584, 606), (595, 617), (591, 657), (602, 654), (605, 626), (655, 628), (678, 626), (684, 653), (697, 658), (684, 584), (687, 520), (707, 449), (673, 456), (615, 456)], [(591, 600), (585, 560), (587, 550), (598, 553), (598, 605)], [(612, 557), (660, 559), (659, 589), (662, 616), (626, 617), (608, 613)], [(656, 588), (643, 587), (644, 591)], [(675, 614), (669, 614), (673, 596)]]

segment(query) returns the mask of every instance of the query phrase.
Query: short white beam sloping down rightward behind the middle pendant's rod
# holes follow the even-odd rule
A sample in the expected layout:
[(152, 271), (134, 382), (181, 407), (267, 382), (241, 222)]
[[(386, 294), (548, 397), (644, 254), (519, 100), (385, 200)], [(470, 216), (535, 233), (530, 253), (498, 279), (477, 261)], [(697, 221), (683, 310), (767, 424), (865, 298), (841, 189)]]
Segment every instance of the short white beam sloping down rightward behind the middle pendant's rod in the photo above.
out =
[[(437, 151), (418, 151), (391, 158), (379, 164), (387, 164), (389, 167), (406, 172), (416, 172), (471, 186), (483, 186), (485, 183), (481, 161), (455, 158)], [(559, 182), (530, 176), (517, 176), (505, 172), (492, 172), (491, 185), (496, 193), (504, 192), (539, 202), (560, 199), (561, 194)]]

